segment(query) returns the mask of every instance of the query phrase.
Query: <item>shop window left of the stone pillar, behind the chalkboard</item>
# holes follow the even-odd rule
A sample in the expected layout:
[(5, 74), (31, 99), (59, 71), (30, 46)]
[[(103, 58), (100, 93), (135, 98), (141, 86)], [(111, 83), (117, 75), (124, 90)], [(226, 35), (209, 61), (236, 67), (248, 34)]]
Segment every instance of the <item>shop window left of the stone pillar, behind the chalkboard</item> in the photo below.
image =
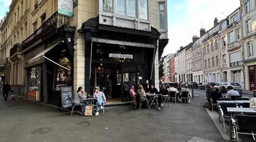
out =
[[(71, 63), (67, 58), (60, 59), (59, 65), (71, 69)], [(57, 73), (54, 79), (53, 90), (60, 90), (61, 86), (71, 86), (71, 70), (67, 70), (58, 65), (55, 65), (55, 68)]]

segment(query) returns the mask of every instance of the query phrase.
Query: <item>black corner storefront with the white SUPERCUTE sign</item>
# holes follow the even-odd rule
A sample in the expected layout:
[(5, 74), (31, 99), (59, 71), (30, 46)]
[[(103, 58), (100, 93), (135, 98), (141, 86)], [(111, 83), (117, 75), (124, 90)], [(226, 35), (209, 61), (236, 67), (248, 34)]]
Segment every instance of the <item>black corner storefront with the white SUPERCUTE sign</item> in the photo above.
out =
[(159, 60), (168, 43), (168, 39), (159, 39), (156, 28), (142, 31), (100, 25), (99, 17), (95, 17), (84, 22), (78, 32), (85, 33), (86, 92), (92, 93), (98, 86), (109, 102), (121, 102), (130, 99), (131, 85), (136, 90), (139, 85), (148, 90), (155, 84), (157, 45)]

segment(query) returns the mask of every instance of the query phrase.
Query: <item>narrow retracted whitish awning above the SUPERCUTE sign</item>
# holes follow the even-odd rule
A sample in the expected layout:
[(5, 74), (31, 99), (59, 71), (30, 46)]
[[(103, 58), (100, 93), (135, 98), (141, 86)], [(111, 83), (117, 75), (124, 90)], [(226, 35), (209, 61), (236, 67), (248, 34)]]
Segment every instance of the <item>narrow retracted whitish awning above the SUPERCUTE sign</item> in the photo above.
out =
[(147, 48), (156, 47), (156, 45), (153, 45), (153, 44), (144, 44), (144, 43), (137, 43), (137, 42), (128, 42), (128, 41), (111, 40), (111, 39), (99, 39), (99, 38), (91, 38), (91, 39), (92, 39), (92, 42), (100, 42), (100, 43), (108, 43), (108, 44), (119, 44), (119, 45), (147, 47)]

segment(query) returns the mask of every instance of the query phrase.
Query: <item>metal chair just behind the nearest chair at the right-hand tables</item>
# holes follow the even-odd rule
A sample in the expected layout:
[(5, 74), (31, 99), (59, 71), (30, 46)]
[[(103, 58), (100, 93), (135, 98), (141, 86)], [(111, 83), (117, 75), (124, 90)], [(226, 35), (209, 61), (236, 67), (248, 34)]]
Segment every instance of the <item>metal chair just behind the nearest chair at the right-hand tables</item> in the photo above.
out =
[(231, 117), (231, 113), (228, 113), (227, 107), (236, 107), (235, 103), (220, 103), (220, 113), (221, 113), (221, 119), (223, 121), (222, 123), (222, 127), (224, 127), (225, 132), (226, 131), (226, 125), (225, 125), (225, 121), (229, 121), (232, 117)]

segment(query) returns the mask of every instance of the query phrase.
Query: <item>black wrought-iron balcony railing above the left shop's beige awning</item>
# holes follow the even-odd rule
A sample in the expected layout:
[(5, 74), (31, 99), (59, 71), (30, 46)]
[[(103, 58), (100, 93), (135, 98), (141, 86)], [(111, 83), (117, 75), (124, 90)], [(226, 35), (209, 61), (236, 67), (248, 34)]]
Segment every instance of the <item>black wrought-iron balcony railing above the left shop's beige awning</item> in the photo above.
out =
[(60, 26), (69, 25), (69, 17), (54, 13), (51, 17), (49, 17), (43, 25), (34, 31), (27, 39), (22, 41), (22, 50), (26, 49), (28, 46), (33, 44), (36, 40), (41, 39), (46, 34), (56, 30)]

